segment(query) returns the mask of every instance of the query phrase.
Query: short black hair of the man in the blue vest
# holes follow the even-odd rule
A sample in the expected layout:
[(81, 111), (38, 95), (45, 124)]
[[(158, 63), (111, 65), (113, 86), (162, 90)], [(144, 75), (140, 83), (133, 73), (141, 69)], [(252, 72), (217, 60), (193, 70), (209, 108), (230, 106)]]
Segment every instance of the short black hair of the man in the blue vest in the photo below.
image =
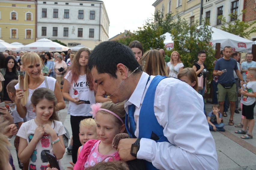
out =
[(129, 70), (136, 70), (134, 73), (142, 72), (142, 68), (134, 57), (132, 50), (116, 41), (104, 41), (97, 45), (88, 61), (91, 70), (96, 67), (98, 73), (108, 73), (111, 77), (117, 78), (117, 64), (124, 64)]

